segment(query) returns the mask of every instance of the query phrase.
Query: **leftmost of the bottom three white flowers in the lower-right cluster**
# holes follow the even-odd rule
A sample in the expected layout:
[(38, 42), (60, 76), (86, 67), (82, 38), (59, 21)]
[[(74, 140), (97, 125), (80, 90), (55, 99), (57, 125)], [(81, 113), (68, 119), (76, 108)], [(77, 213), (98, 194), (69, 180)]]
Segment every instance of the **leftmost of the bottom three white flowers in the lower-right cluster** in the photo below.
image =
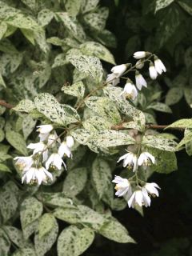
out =
[(128, 179), (115, 175), (112, 182), (116, 183), (114, 189), (117, 190), (117, 192), (115, 193), (115, 195), (117, 195), (118, 197), (125, 197), (126, 199), (130, 198), (132, 190)]

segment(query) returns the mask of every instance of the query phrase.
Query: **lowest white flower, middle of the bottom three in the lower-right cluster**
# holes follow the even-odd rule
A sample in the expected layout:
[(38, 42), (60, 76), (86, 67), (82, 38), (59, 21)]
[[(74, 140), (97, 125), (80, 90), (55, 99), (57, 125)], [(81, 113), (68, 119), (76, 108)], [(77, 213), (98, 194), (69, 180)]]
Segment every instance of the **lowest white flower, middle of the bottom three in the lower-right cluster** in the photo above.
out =
[(147, 191), (145, 188), (142, 188), (141, 190), (134, 191), (134, 194), (130, 197), (128, 201), (128, 206), (134, 208), (134, 206), (150, 206), (150, 197), (147, 194)]

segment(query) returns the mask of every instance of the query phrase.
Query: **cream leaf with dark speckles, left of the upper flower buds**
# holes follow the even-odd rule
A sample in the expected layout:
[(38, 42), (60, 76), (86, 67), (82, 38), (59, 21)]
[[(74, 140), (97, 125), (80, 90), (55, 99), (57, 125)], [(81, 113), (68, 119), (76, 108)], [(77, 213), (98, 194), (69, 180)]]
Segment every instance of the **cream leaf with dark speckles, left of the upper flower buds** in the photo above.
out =
[(75, 66), (78, 71), (90, 75), (97, 82), (102, 81), (102, 63), (98, 58), (86, 55), (70, 55), (67, 59)]

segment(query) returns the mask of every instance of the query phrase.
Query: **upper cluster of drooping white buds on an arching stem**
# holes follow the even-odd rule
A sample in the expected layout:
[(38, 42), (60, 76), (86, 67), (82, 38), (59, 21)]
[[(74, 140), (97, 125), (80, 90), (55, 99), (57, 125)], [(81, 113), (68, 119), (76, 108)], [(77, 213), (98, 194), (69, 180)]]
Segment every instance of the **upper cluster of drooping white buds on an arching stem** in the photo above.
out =
[[(151, 54), (146, 51), (137, 51), (134, 53), (134, 58), (138, 59), (136, 62), (134, 69), (129, 64), (122, 64), (118, 66), (114, 66), (111, 69), (111, 74), (107, 75), (106, 82), (116, 86), (120, 82), (120, 77), (122, 74), (128, 73), (130, 70), (135, 71), (135, 85), (134, 82), (130, 80), (130, 78), (126, 78), (126, 85), (121, 93), (126, 98), (130, 98), (134, 100), (138, 96), (138, 90), (142, 90), (142, 87), (147, 87), (146, 80), (143, 78), (142, 74), (138, 70), (141, 70), (144, 66), (145, 62), (150, 62), (149, 73), (151, 79), (156, 79), (158, 74), (162, 74), (162, 72), (166, 72), (166, 67), (162, 63), (162, 61), (154, 54)], [(154, 62), (151, 59), (154, 58)], [(127, 70), (127, 67), (130, 66), (130, 70)], [(136, 69), (136, 70), (135, 70)]]

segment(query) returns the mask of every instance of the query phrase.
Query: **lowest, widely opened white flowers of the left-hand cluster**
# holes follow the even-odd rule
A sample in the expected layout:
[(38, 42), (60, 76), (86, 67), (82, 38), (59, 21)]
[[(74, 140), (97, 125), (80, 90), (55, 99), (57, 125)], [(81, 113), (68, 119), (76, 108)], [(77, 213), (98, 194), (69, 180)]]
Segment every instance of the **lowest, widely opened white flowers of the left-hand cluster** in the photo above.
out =
[(52, 174), (46, 168), (40, 167), (40, 168), (34, 168), (31, 167), (29, 170), (26, 170), (22, 176), (22, 183), (26, 181), (26, 183), (36, 183), (38, 182), (38, 185), (41, 185), (42, 182), (46, 183), (47, 178), (50, 178), (53, 180)]

